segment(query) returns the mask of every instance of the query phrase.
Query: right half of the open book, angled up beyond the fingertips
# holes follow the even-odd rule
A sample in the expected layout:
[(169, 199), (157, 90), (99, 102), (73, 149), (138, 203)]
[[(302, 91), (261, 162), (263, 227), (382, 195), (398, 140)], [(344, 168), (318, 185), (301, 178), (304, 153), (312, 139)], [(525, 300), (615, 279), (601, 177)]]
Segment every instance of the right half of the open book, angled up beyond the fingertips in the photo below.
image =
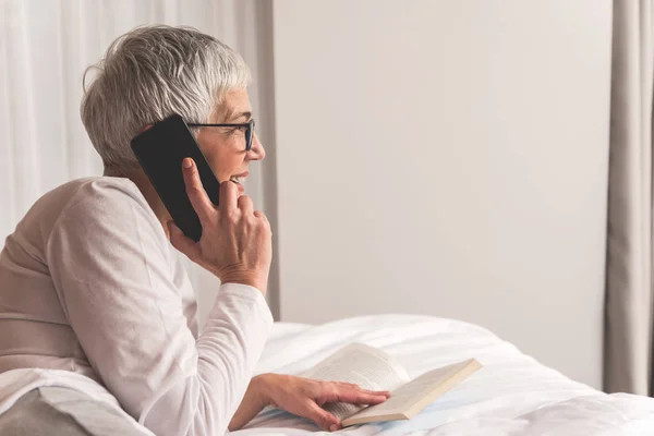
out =
[(410, 419), (480, 367), (481, 364), (471, 359), (429, 371), (393, 390), (386, 402), (366, 408), (351, 419), (365, 420), (384, 415), (405, 415)]

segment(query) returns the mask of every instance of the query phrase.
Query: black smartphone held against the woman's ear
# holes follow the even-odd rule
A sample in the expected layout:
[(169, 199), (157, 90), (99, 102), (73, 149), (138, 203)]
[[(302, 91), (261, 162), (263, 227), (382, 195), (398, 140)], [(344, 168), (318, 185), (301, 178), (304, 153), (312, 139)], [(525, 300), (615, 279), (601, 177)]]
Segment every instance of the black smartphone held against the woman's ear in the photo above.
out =
[(182, 161), (186, 157), (195, 161), (202, 184), (216, 206), (220, 182), (182, 117), (168, 117), (135, 136), (132, 150), (174, 223), (187, 238), (199, 241), (202, 225), (186, 195)]

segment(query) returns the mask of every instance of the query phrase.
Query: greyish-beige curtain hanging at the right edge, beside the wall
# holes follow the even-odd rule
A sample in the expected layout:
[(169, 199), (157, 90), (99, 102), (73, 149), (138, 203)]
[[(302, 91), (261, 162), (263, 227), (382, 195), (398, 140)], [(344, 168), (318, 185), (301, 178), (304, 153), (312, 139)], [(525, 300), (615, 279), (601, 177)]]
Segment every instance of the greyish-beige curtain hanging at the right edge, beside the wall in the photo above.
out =
[(652, 0), (615, 0), (604, 387), (652, 393)]

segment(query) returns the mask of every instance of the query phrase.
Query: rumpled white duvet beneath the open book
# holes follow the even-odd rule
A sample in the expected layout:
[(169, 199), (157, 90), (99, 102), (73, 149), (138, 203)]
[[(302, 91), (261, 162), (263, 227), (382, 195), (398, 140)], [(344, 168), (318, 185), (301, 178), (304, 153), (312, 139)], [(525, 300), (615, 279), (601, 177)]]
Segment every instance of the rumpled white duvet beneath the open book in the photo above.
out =
[[(360, 435), (653, 435), (654, 399), (606, 395), (520, 353), (489, 331), (451, 319), (383, 315), (322, 326), (278, 323), (257, 373), (296, 374), (350, 342), (380, 348), (415, 377), (477, 359), (484, 367), (410, 421), (367, 424)], [(311, 422), (266, 409), (235, 435), (306, 435)]]

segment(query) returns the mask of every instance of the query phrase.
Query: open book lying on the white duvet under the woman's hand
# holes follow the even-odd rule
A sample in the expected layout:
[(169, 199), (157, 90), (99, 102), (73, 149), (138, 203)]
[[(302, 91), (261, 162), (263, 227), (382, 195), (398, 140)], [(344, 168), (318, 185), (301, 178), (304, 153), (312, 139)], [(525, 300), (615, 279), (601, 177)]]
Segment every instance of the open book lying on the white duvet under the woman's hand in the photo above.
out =
[(376, 421), (410, 420), (481, 367), (476, 360), (470, 359), (429, 371), (412, 380), (407, 371), (384, 351), (353, 343), (301, 375), (317, 380), (354, 383), (364, 389), (390, 391), (391, 397), (377, 405), (325, 404), (325, 409), (347, 427)]

